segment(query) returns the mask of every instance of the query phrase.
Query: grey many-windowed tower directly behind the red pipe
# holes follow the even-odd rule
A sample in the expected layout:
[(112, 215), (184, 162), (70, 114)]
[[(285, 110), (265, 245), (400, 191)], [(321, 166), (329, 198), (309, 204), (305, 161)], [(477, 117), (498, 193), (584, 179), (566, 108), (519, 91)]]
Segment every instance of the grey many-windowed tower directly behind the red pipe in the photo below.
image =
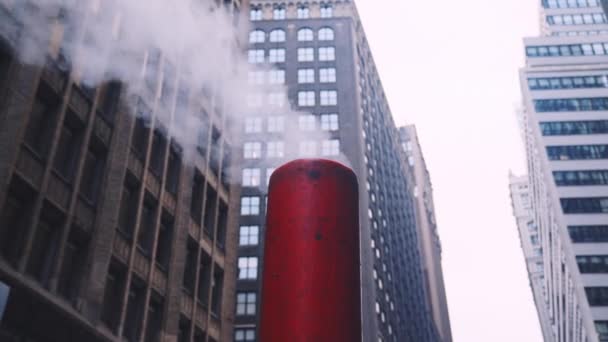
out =
[[(243, 123), (235, 341), (256, 341), (268, 179), (295, 157), (348, 160), (359, 179), (363, 341), (440, 341), (416, 230), (413, 172), (352, 1), (252, 1)], [(278, 99), (287, 89), (289, 103)], [(270, 109), (268, 108), (270, 107)], [(287, 112), (297, 112), (287, 116)]]

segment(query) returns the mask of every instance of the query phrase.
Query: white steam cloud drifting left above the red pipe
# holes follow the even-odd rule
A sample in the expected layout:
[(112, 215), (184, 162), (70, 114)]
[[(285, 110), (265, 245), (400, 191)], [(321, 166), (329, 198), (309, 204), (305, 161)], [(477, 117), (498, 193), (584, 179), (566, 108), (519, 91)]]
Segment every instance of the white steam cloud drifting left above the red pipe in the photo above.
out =
[[(241, 134), (251, 113), (284, 115), (282, 140), (291, 147), (286, 148), (287, 158), (298, 157), (304, 138), (327, 139), (320, 130), (311, 134), (298, 129), (302, 113), (291, 108), (284, 86), (273, 85), (272, 91), (281, 97), (273, 102), (283, 106), (268, 99), (258, 107), (248, 105), (248, 98), (267, 94), (249, 84), (250, 72), (270, 67), (247, 61), (247, 42), (237, 41), (246, 38), (247, 28), (235, 22), (231, 8), (218, 8), (216, 1), (40, 0), (17, 6), (14, 14), (24, 24), (24, 36), (30, 37), (16, 46), (25, 63), (43, 65), (48, 54), (60, 52), (81, 84), (121, 81), (134, 115), (142, 115), (142, 101), (157, 108), (154, 120), (182, 146), (185, 162), (192, 162), (204, 131), (201, 111), (209, 106), (227, 116), (233, 137)], [(60, 46), (60, 51), (48, 51), (49, 46)], [(235, 139), (243, 141), (242, 136)]]

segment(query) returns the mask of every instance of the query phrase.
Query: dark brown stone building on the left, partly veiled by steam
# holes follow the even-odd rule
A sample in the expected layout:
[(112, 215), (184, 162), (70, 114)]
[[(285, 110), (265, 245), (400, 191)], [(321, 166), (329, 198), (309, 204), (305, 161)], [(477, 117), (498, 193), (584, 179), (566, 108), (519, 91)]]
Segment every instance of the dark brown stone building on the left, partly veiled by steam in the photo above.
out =
[[(78, 27), (42, 27), (37, 66), (14, 49), (37, 5), (0, 1), (0, 340), (230, 341), (239, 189), (222, 106), (168, 86), (179, 71), (150, 51), (129, 85), (137, 115), (119, 82), (82, 83), (58, 44), (82, 43), (104, 7), (78, 5)], [(168, 127), (177, 96), (209, 132), (187, 162)]]

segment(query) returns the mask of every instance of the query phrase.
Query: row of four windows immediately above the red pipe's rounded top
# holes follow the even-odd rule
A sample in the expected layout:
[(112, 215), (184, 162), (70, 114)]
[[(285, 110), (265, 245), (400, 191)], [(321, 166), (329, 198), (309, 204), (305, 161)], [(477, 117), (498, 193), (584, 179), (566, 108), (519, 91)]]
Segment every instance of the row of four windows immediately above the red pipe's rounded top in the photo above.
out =
[[(314, 157), (319, 155), (316, 141), (301, 141), (299, 145), (299, 156)], [(340, 155), (340, 140), (331, 139), (321, 142), (321, 156), (337, 156)], [(246, 142), (243, 145), (243, 155), (245, 159), (261, 159), (262, 158), (262, 143), (261, 142)], [(267, 158), (284, 158), (285, 143), (283, 141), (266, 142), (266, 157)]]

